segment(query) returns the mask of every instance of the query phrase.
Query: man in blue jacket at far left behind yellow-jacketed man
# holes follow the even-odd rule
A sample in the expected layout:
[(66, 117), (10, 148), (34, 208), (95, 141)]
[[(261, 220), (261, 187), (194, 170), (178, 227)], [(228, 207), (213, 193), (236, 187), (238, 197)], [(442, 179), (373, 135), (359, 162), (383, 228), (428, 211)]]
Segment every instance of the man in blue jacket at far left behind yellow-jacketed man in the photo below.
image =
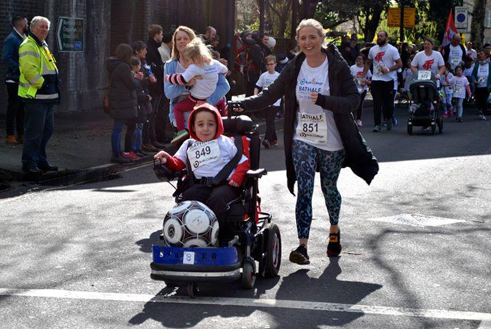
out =
[[(25, 16), (14, 16), (12, 32), (3, 42), (2, 60), (7, 65), (8, 105), (6, 115), (7, 143), (23, 143), (24, 139), (24, 105), (19, 97), (19, 47), (29, 32)], [(17, 132), (17, 137), (15, 133)]]

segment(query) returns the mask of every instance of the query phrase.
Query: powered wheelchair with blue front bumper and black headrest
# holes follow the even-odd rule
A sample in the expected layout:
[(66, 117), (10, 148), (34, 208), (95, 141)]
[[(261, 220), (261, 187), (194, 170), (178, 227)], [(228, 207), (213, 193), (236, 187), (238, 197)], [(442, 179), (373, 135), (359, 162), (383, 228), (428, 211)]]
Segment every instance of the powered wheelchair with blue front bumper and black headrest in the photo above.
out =
[[(242, 184), (241, 198), (230, 204), (224, 226), (219, 228), (219, 247), (171, 247), (164, 241), (152, 245), (151, 278), (163, 280), (170, 287), (186, 284), (191, 298), (197, 293), (196, 282), (241, 279), (244, 289), (252, 289), (257, 276), (273, 278), (280, 269), (280, 230), (271, 223), (272, 216), (261, 211), (258, 182), (267, 174), (265, 169), (259, 169), (261, 139), (257, 126), (249, 117), (230, 117), (230, 103), (229, 116), (223, 118), (225, 134), (234, 136), (235, 140), (242, 136), (250, 139), (250, 170)], [(154, 164), (154, 171), (160, 180), (178, 178), (178, 186), (187, 175), (185, 169), (175, 173), (160, 163)], [(180, 201), (178, 197), (176, 195), (176, 202)], [(160, 240), (164, 240), (163, 234), (160, 234)], [(191, 262), (184, 258), (189, 253), (192, 253)]]

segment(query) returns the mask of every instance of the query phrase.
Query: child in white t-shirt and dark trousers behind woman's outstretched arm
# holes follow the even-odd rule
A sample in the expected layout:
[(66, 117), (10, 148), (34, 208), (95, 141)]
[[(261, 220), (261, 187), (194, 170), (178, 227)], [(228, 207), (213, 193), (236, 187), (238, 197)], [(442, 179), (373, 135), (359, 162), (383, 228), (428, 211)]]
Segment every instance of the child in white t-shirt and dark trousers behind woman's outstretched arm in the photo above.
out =
[[(259, 77), (256, 82), (256, 88), (254, 88), (254, 95), (259, 93), (259, 90), (270, 86), (280, 76), (280, 73), (275, 71), (276, 57), (274, 55), (266, 56), (265, 58), (267, 71)], [(270, 147), (278, 146), (278, 137), (276, 136), (276, 130), (274, 127), (274, 119), (276, 112), (280, 108), (280, 101), (278, 99), (272, 106), (268, 106), (263, 110), (263, 117), (266, 119), (266, 132), (263, 139), (263, 146), (267, 149)]]

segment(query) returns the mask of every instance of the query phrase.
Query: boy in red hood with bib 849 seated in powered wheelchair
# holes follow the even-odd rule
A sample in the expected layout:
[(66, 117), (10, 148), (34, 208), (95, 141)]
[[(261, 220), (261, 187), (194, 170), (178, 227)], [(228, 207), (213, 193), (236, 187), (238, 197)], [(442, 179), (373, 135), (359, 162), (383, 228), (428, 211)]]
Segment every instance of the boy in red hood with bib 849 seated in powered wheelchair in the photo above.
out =
[(250, 141), (246, 136), (235, 140), (224, 136), (221, 116), (217, 108), (208, 103), (194, 108), (188, 127), (191, 138), (184, 141), (174, 156), (160, 151), (154, 158), (171, 171), (187, 169), (187, 178), (174, 196), (180, 195), (180, 201), (206, 204), (223, 228), (229, 205), (240, 199), (240, 186), (250, 169)]

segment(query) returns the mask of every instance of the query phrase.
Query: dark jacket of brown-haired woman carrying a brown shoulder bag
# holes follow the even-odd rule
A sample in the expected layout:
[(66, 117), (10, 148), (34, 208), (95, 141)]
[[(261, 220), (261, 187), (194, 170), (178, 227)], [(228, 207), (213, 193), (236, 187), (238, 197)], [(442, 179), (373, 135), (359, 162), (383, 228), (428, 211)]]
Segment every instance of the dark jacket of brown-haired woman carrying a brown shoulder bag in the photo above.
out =
[(139, 83), (133, 79), (128, 63), (111, 57), (108, 60), (108, 71), (112, 75), (109, 89), (109, 109), (112, 119), (133, 119), (138, 115), (136, 90)]

